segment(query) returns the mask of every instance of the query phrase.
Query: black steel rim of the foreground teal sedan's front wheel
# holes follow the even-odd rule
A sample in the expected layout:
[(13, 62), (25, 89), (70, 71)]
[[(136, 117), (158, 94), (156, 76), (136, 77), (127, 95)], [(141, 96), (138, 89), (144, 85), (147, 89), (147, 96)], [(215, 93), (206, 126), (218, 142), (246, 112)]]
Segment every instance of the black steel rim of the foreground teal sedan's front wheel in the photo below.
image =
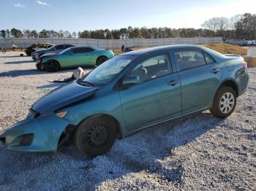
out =
[(88, 134), (89, 146), (102, 147), (108, 141), (108, 127), (105, 124), (95, 124)]

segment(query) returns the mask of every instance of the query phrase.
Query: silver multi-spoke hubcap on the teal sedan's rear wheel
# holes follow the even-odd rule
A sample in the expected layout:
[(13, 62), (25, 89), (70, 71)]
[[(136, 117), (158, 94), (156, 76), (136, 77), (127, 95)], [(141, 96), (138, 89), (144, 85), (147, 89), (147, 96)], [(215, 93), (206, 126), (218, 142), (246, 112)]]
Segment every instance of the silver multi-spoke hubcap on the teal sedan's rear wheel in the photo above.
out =
[(219, 109), (220, 111), (222, 111), (222, 113), (227, 114), (228, 112), (230, 112), (235, 104), (235, 98), (234, 95), (232, 93), (224, 93), (224, 95), (222, 95), (222, 98), (220, 98), (219, 101)]

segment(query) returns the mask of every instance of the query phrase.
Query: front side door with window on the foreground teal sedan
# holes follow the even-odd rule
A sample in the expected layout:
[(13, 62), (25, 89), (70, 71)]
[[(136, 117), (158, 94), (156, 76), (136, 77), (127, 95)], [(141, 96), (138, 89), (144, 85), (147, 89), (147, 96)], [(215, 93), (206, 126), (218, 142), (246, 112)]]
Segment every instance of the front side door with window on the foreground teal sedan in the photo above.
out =
[(129, 130), (181, 114), (181, 86), (165, 52), (146, 58), (126, 76), (140, 83), (120, 90), (121, 106)]

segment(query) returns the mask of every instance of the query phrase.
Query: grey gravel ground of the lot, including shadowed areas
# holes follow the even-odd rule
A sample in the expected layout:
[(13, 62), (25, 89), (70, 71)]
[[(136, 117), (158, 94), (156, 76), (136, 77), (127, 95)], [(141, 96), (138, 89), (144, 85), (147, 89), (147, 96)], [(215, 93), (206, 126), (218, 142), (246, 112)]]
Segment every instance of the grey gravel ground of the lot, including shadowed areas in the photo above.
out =
[[(20, 52), (0, 53), (0, 130), (70, 77), (35, 70)], [(89, 71), (89, 69), (87, 69)], [(206, 111), (116, 141), (85, 160), (73, 146), (50, 154), (0, 151), (0, 190), (256, 190), (256, 69), (226, 120)]]

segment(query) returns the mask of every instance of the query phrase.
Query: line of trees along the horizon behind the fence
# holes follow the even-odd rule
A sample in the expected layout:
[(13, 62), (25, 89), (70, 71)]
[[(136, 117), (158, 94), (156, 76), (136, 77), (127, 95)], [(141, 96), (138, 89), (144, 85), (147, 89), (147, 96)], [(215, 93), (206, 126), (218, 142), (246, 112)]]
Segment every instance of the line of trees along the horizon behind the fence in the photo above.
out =
[(100, 29), (93, 31), (69, 31), (45, 30), (23, 30), (17, 28), (1, 30), (1, 38), (89, 38), (89, 39), (154, 39), (154, 38), (190, 38), (190, 37), (214, 37), (234, 39), (256, 39), (256, 15), (245, 13), (231, 18), (213, 17), (206, 20), (202, 28), (120, 28)]

